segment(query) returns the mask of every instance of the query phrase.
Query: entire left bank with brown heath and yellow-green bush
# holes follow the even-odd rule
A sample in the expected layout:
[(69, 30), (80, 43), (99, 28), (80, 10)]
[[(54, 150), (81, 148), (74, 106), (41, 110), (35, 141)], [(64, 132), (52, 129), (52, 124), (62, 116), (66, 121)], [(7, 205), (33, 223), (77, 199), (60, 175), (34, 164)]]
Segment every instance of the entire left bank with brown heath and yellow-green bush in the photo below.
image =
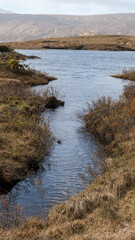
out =
[(53, 139), (40, 115), (45, 108), (64, 105), (53, 89), (42, 95), (27, 86), (47, 84), (45, 74), (21, 64), (26, 56), (0, 46), (0, 191), (38, 168), (50, 151)]

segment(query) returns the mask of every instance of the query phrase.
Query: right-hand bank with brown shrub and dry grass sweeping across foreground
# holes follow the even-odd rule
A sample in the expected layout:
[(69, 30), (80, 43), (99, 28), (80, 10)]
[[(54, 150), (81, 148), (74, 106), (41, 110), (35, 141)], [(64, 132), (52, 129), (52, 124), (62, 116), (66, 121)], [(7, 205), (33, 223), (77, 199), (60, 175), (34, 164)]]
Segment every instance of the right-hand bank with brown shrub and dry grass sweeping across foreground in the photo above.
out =
[(101, 98), (83, 116), (86, 128), (109, 155), (92, 184), (50, 211), (46, 222), (30, 219), (1, 230), (1, 239), (133, 240), (135, 236), (135, 86), (115, 102)]

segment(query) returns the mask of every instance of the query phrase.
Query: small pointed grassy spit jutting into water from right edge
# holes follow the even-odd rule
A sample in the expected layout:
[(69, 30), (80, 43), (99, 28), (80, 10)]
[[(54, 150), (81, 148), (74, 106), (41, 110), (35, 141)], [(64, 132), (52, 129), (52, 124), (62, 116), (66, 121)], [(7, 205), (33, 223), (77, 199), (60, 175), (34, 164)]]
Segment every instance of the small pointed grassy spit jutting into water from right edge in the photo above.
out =
[(115, 78), (122, 78), (122, 79), (128, 79), (130, 81), (135, 82), (135, 69), (131, 68), (129, 70), (124, 69), (121, 74), (113, 75), (112, 77)]

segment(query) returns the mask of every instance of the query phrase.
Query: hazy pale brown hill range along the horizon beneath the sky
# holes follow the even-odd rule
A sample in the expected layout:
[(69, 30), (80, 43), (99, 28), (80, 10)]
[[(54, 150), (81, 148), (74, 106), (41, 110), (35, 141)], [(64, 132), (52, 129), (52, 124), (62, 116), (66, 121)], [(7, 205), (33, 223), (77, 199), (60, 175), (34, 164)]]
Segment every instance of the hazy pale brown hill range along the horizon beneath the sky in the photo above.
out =
[(91, 16), (0, 13), (0, 41), (94, 34), (135, 36), (135, 13)]

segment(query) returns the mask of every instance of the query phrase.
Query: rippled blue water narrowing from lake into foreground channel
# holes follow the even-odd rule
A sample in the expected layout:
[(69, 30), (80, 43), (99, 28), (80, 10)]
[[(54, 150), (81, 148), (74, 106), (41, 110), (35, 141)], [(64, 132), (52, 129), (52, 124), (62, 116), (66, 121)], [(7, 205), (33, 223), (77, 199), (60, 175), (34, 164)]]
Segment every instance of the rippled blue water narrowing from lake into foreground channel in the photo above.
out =
[[(65, 200), (85, 186), (79, 173), (86, 172), (92, 154), (99, 145), (85, 132), (77, 113), (87, 107), (87, 102), (101, 96), (117, 99), (128, 81), (110, 77), (123, 68), (134, 67), (134, 52), (99, 52), (68, 50), (18, 50), (41, 59), (29, 59), (26, 64), (47, 72), (58, 80), (53, 86), (64, 97), (65, 106), (47, 110), (42, 114), (49, 119), (51, 131), (62, 144), (55, 144), (45, 157), (44, 170), (19, 183), (11, 192), (26, 215), (39, 215), (43, 208)], [(38, 91), (47, 86), (36, 87)]]

